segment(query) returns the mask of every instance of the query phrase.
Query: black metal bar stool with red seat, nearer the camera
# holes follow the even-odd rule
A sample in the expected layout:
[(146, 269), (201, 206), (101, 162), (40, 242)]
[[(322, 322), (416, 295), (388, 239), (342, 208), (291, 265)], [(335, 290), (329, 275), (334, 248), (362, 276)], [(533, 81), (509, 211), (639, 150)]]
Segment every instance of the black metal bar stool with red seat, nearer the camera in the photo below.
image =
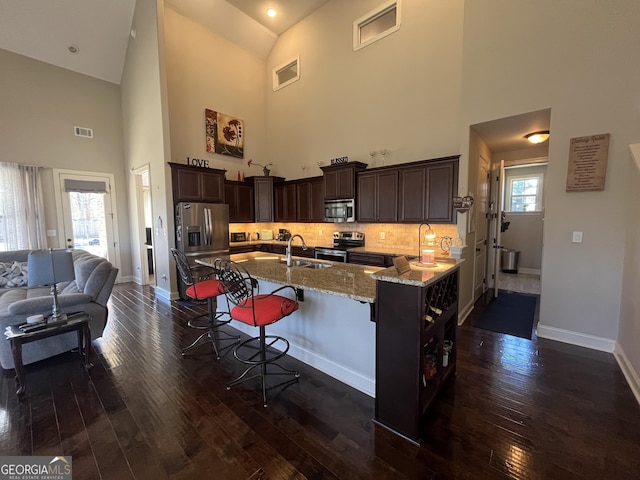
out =
[[(231, 260), (218, 258), (215, 261), (215, 270), (218, 278), (224, 286), (225, 295), (230, 304), (233, 304), (229, 312), (231, 318), (247, 325), (258, 327), (260, 335), (240, 342), (233, 349), (233, 355), (248, 367), (242, 374), (227, 383), (227, 390), (232, 386), (254, 378), (260, 378), (262, 384), (262, 402), (267, 406), (267, 391), (273, 388), (287, 386), (295, 383), (300, 378), (300, 373), (289, 370), (276, 363), (289, 351), (289, 342), (278, 335), (267, 335), (265, 327), (291, 315), (298, 309), (298, 302), (283, 295), (277, 295), (283, 290), (291, 290), (295, 295), (295, 288), (286, 285), (268, 294), (259, 292), (258, 282), (251, 277), (242, 266)], [(230, 305), (231, 306), (231, 305)], [(274, 371), (272, 367), (277, 367)], [(258, 369), (254, 375), (249, 372)], [(268, 376), (292, 377), (277, 385), (267, 387)]]

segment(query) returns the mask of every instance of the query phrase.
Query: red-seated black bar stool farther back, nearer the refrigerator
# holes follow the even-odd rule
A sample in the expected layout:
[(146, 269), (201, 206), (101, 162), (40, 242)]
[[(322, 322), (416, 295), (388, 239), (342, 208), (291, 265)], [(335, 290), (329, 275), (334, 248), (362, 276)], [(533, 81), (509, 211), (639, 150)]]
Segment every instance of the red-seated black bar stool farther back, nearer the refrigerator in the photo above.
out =
[[(198, 277), (193, 275), (193, 269), (189, 265), (186, 255), (178, 249), (172, 248), (171, 254), (176, 261), (178, 272), (182, 281), (187, 286), (185, 293), (187, 296), (195, 301), (207, 302), (207, 313), (197, 315), (187, 322), (187, 325), (195, 330), (205, 330), (198, 338), (196, 338), (191, 345), (182, 349), (182, 355), (185, 356), (190, 350), (205, 345), (202, 340), (209, 338), (213, 351), (216, 354), (216, 358), (220, 359), (221, 353), (227, 349), (235, 346), (240, 341), (240, 336), (230, 335), (224, 330), (220, 330), (220, 327), (228, 324), (231, 321), (228, 311), (218, 311), (218, 296), (224, 295), (224, 287), (218, 279), (210, 279)], [(215, 275), (215, 269), (211, 268), (211, 275)], [(224, 316), (228, 316), (227, 320), (222, 320)], [(204, 319), (204, 321), (202, 321)], [(220, 334), (222, 338), (220, 338)], [(218, 341), (233, 341), (218, 348)]]

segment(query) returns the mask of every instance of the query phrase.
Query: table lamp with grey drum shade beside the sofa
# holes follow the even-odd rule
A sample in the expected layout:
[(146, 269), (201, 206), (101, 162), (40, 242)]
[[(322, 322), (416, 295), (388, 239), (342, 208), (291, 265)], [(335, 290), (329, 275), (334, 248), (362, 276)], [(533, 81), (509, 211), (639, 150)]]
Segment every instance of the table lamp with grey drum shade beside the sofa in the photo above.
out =
[(53, 309), (51, 320), (64, 320), (67, 315), (60, 311), (58, 286), (60, 282), (70, 282), (76, 278), (73, 270), (71, 250), (37, 250), (27, 257), (27, 284), (30, 287), (51, 286)]

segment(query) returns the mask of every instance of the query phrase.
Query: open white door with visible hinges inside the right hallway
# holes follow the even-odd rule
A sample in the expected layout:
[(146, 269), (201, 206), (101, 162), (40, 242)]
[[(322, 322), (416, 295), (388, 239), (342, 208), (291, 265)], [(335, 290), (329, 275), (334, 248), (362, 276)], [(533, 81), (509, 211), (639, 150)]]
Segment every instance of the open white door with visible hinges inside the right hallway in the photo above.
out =
[(491, 167), (491, 201), (489, 202), (489, 246), (487, 280), (493, 288), (494, 297), (498, 296), (498, 275), (500, 275), (500, 251), (502, 250), (502, 182), (504, 179), (504, 160)]

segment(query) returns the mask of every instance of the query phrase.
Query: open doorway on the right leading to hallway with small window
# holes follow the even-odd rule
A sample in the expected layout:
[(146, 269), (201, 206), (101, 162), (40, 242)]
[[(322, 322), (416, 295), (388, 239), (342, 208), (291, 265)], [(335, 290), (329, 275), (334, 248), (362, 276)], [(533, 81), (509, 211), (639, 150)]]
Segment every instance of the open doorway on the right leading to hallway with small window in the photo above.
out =
[[(479, 201), (480, 205), (486, 205), (477, 212), (475, 232), (469, 229), (471, 238), (467, 237), (467, 244), (475, 246), (474, 302), (487, 289), (496, 295), (500, 289), (540, 294), (544, 210), (536, 205), (535, 208), (525, 207), (526, 211), (519, 212), (515, 211), (514, 204), (507, 204), (507, 201), (514, 200), (517, 203), (516, 200), (519, 200), (522, 203), (530, 200), (525, 191), (530, 187), (527, 179), (514, 180), (512, 177), (517, 170), (526, 177), (529, 173), (526, 169), (531, 164), (547, 161), (548, 142), (533, 144), (526, 136), (535, 131), (548, 131), (550, 122), (551, 110), (545, 109), (470, 127), (468, 187), (475, 192), (477, 203)], [(505, 178), (507, 175), (509, 178)], [(525, 190), (515, 191), (516, 186)], [(485, 191), (487, 187), (488, 194)], [(483, 214), (485, 218), (482, 218)], [(534, 218), (538, 223), (536, 234), (531, 235), (528, 229)], [(537, 246), (534, 239), (538, 242)], [(519, 251), (517, 274), (502, 271), (503, 247)]]

